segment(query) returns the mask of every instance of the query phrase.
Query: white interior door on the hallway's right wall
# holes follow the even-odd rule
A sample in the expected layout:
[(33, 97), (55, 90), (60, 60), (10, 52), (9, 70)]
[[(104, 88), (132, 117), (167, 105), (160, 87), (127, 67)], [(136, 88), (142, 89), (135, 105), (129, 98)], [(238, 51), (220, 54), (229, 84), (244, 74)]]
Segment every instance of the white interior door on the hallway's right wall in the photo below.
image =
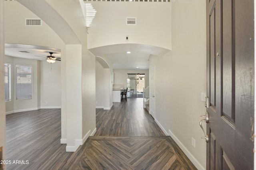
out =
[(155, 68), (150, 69), (150, 100), (149, 100), (149, 113), (155, 118)]

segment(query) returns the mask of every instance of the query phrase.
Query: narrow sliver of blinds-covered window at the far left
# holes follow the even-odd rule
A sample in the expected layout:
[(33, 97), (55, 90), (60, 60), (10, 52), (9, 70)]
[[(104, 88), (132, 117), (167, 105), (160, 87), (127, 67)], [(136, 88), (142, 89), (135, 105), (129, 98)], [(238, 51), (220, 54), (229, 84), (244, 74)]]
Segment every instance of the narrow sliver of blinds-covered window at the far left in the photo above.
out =
[(4, 64), (4, 92), (5, 101), (11, 100), (11, 64)]

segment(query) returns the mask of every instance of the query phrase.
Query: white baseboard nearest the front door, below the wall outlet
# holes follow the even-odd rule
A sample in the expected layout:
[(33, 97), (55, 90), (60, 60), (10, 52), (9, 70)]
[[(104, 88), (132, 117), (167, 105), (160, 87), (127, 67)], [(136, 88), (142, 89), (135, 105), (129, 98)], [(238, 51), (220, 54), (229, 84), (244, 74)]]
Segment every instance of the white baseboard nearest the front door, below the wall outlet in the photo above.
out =
[(196, 158), (186, 149), (186, 147), (180, 142), (180, 140), (170, 131), (169, 129), (169, 135), (172, 137), (172, 139), (177, 143), (177, 145), (180, 147), (180, 149), (188, 156), (189, 160), (196, 166), (198, 170), (205, 170), (205, 168), (196, 160)]

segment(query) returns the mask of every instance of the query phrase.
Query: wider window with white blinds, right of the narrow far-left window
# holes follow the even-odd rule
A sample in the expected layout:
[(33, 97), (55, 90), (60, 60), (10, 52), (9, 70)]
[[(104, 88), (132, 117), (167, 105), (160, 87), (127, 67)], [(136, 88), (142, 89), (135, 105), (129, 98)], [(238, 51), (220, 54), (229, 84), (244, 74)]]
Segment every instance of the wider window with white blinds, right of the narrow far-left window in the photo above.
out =
[(32, 66), (16, 65), (16, 100), (32, 99)]

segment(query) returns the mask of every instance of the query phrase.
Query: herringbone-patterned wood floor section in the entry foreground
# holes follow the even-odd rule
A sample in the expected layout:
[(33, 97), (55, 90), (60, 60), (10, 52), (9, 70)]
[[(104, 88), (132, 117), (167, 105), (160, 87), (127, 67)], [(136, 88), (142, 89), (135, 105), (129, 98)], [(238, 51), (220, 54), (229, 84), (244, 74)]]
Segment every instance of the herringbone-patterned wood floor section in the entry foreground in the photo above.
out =
[[(162, 137), (90, 137), (76, 169), (93, 170), (189, 170), (172, 139)], [(177, 150), (178, 149), (178, 150)], [(181, 155), (179, 155), (181, 154)]]

